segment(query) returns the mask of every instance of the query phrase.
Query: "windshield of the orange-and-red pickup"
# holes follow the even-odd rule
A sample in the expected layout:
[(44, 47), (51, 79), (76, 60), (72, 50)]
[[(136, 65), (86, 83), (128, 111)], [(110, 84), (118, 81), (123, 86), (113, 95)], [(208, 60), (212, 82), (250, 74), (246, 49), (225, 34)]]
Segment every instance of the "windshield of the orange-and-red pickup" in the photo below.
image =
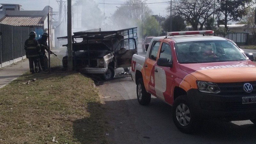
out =
[(230, 41), (181, 42), (174, 46), (179, 63), (246, 60), (246, 56)]

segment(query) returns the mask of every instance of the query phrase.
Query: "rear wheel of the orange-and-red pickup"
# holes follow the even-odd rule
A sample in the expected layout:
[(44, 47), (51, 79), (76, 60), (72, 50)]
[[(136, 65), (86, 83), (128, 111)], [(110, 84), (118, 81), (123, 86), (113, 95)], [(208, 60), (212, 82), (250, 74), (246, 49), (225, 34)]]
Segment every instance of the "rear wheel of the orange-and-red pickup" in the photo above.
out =
[(137, 84), (137, 99), (141, 105), (148, 105), (151, 100), (151, 94), (146, 91), (143, 79), (140, 78), (138, 81), (139, 83)]

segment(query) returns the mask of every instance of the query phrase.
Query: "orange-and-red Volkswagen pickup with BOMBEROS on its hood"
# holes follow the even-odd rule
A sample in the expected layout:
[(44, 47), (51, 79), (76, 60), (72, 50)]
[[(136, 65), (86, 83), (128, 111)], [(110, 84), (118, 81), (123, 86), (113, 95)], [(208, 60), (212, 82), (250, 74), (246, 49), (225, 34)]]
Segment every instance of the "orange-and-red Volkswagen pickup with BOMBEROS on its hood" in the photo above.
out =
[(132, 57), (139, 103), (148, 105), (153, 95), (171, 105), (181, 132), (194, 132), (206, 119), (256, 124), (254, 56), (212, 33), (170, 32), (151, 40), (146, 57)]

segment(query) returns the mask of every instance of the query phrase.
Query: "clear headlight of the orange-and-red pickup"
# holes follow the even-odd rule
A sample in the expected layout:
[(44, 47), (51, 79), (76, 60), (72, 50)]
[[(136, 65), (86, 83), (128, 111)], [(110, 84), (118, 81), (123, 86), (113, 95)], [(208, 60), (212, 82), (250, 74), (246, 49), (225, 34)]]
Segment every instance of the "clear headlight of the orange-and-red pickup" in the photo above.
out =
[(212, 82), (196, 81), (197, 88), (200, 92), (220, 93), (220, 88)]

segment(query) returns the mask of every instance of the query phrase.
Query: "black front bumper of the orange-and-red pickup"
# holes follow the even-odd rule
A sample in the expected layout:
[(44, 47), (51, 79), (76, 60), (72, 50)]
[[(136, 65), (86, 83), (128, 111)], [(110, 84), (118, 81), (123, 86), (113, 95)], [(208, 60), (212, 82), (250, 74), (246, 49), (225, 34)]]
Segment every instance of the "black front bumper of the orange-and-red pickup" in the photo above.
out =
[(188, 102), (194, 114), (200, 119), (255, 119), (256, 103), (242, 104), (244, 96), (248, 95), (218, 95), (191, 89), (188, 91)]

